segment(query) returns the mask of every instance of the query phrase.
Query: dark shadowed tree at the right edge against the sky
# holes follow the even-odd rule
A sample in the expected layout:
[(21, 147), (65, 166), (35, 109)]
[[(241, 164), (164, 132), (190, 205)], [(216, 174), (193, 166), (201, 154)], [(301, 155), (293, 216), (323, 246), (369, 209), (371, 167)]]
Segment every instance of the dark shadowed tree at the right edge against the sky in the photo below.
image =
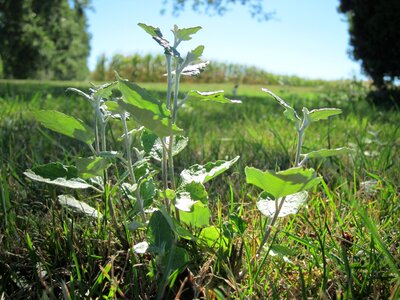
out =
[(354, 59), (385, 90), (400, 78), (400, 1), (341, 0), (339, 11), (349, 20)]

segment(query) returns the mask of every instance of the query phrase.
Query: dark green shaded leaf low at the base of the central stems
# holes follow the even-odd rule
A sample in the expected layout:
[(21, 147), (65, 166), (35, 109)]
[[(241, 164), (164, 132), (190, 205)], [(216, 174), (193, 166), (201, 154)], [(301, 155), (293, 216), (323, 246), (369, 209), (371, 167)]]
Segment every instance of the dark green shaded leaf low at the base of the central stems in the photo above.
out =
[(161, 252), (170, 249), (175, 241), (174, 232), (159, 210), (151, 215), (146, 235), (149, 244)]

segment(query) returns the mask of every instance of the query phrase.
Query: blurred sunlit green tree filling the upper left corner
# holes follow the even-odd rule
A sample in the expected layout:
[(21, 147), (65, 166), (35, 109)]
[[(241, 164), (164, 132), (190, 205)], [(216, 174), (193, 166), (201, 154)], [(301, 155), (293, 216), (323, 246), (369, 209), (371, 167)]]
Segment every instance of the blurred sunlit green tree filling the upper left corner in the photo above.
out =
[(4, 76), (85, 78), (90, 51), (88, 5), (88, 0), (0, 0)]

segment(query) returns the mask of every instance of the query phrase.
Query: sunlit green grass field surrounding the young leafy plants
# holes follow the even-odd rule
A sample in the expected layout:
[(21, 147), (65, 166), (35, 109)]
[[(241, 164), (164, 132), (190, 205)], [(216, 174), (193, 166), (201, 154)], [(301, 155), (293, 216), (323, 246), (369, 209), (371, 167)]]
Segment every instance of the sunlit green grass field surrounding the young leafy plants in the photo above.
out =
[[(70, 86), (89, 85), (0, 81), (0, 299), (152, 299), (160, 286), (166, 299), (400, 298), (400, 114), (371, 106), (362, 84), (268, 86), (298, 111), (342, 109), (310, 125), (305, 151), (342, 146), (353, 151), (308, 161), (322, 184), (297, 214), (279, 220), (257, 253), (267, 220), (256, 206), (261, 190), (246, 183), (244, 169), (291, 167), (294, 126), (262, 86), (242, 85), (232, 96), (233, 85), (183, 83), (181, 92), (224, 89), (242, 103), (182, 107), (178, 125), (190, 143), (176, 156), (176, 176), (193, 164), (240, 159), (205, 183), (209, 222), (225, 244), (179, 239), (190, 258), (167, 278), (158, 256), (133, 250), (146, 232), (129, 231), (129, 201), (114, 199), (117, 224), (93, 220), (61, 206), (57, 197), (72, 193), (106, 215), (110, 207), (98, 195), (24, 175), (38, 165), (71, 165), (75, 157), (90, 155), (82, 143), (42, 127), (31, 115), (54, 109), (90, 124), (90, 104), (67, 95)], [(165, 84), (143, 87), (164, 99)], [(112, 124), (107, 131), (110, 149), (123, 148), (121, 127)], [(118, 168), (113, 174), (119, 178)], [(189, 229), (201, 235), (201, 229)]]

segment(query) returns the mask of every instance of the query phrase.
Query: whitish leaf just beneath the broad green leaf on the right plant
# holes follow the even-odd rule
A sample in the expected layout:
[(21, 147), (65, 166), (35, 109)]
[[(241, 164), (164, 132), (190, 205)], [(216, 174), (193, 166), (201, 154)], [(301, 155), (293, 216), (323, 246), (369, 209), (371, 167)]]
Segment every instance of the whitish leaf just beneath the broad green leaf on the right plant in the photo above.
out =
[[(285, 196), (285, 201), (279, 212), (278, 217), (285, 217), (287, 215), (296, 214), (301, 205), (303, 205), (308, 198), (308, 192), (302, 191)], [(273, 200), (267, 195), (261, 193), (260, 199), (257, 201), (258, 210), (265, 216), (272, 218), (276, 213), (276, 201), (280, 203), (283, 198)]]

